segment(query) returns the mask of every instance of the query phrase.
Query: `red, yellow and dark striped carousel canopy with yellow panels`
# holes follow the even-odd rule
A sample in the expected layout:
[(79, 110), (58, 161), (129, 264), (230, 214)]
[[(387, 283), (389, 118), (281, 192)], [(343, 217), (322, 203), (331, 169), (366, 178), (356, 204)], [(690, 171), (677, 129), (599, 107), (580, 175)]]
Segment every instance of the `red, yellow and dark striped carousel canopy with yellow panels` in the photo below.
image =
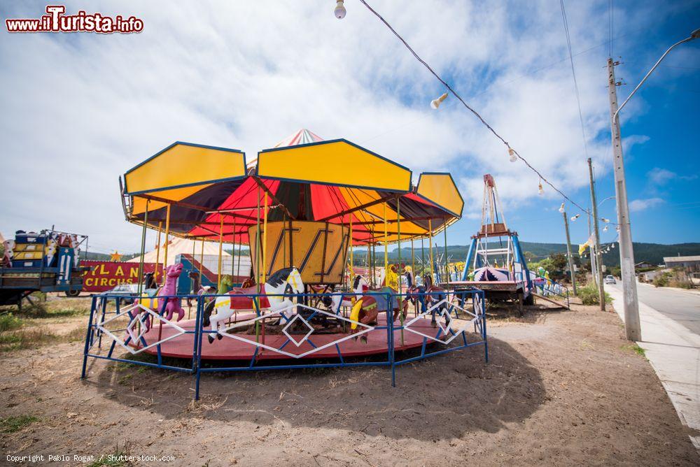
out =
[(175, 236), (225, 242), (248, 241), (264, 216), (265, 194), (270, 222), (352, 223), (353, 245), (428, 236), (456, 222), (463, 208), (449, 173), (421, 173), (414, 186), (408, 168), (304, 129), (258, 152), (252, 164), (239, 150), (174, 143), (127, 171), (122, 194), (130, 222), (169, 223)]

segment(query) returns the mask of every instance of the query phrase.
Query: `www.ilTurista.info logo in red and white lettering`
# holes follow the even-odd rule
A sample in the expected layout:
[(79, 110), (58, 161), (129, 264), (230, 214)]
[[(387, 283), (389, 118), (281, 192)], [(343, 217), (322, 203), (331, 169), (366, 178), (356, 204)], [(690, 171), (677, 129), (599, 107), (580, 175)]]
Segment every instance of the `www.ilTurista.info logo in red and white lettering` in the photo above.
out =
[(144, 21), (130, 16), (105, 16), (102, 13), (85, 13), (80, 10), (76, 15), (64, 15), (63, 5), (46, 6), (46, 15), (40, 18), (16, 18), (5, 20), (8, 32), (97, 32), (99, 34), (130, 34), (144, 30)]

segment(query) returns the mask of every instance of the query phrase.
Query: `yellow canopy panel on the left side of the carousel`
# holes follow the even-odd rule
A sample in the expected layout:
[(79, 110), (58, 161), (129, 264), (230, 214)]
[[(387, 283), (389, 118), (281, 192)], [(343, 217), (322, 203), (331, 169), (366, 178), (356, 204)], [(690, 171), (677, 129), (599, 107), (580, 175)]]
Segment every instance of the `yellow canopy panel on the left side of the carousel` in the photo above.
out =
[(245, 175), (244, 152), (177, 142), (125, 173), (125, 194), (191, 187)]

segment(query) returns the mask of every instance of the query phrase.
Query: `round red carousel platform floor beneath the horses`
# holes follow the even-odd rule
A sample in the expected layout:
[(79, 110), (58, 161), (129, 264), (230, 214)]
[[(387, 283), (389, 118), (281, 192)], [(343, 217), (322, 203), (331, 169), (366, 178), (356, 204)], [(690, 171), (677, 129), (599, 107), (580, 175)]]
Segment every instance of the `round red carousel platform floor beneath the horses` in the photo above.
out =
[[(239, 319), (243, 317), (239, 316)], [(410, 317), (407, 317), (407, 320)], [(195, 338), (195, 320), (189, 319), (178, 323), (188, 333), (181, 333), (178, 329), (171, 326), (158, 326), (156, 323), (151, 330), (144, 333), (144, 339), (148, 345), (155, 343), (158, 340), (164, 340), (171, 336), (169, 340), (165, 340), (160, 344), (160, 353), (163, 357), (176, 357), (182, 359), (191, 359), (193, 356), (193, 339)], [(386, 326), (386, 317), (379, 317), (377, 326)], [(400, 326), (397, 319), (394, 326)], [(427, 336), (437, 336), (437, 331), (440, 328), (430, 325), (430, 319), (419, 319), (411, 324), (411, 329), (426, 334)], [(207, 331), (207, 329), (204, 329)], [(405, 329), (403, 331), (403, 340), (401, 338), (401, 330), (394, 331), (394, 348), (397, 351), (408, 350), (423, 345), (421, 334)], [(258, 359), (328, 359), (337, 358), (338, 352), (343, 358), (346, 357), (367, 357), (376, 354), (386, 354), (388, 352), (388, 331), (386, 329), (372, 329), (362, 334), (367, 341), (363, 342), (360, 338), (353, 338), (349, 333), (311, 333), (309, 338), (304, 338), (301, 334), (293, 334), (293, 338), (300, 342), (296, 345), (284, 334), (267, 334), (259, 337), (259, 342), (270, 348), (258, 347), (255, 343), (255, 334), (235, 333), (222, 336), (221, 339), (214, 340), (214, 343), (209, 343), (207, 336), (215, 336), (214, 333), (202, 333), (202, 360), (250, 360), (255, 354), (255, 349), (258, 348)], [(235, 336), (235, 337), (232, 337)], [(345, 340), (342, 340), (345, 339)], [(341, 342), (338, 342), (342, 340)], [(288, 342), (287, 342), (288, 341)], [(428, 339), (428, 344), (435, 342)], [(286, 343), (286, 345), (285, 345)], [(312, 345), (313, 344), (313, 345)], [(139, 345), (134, 343), (129, 344), (134, 349), (139, 348)], [(336, 348), (337, 345), (337, 348)], [(316, 348), (323, 347), (316, 352), (311, 352)], [(272, 349), (282, 350), (284, 353), (276, 352)], [(143, 351), (148, 354), (157, 354), (158, 347), (153, 346)], [(311, 352), (311, 353), (307, 353)], [(306, 354), (306, 355), (302, 355)], [(302, 355), (301, 357), (298, 357)]]

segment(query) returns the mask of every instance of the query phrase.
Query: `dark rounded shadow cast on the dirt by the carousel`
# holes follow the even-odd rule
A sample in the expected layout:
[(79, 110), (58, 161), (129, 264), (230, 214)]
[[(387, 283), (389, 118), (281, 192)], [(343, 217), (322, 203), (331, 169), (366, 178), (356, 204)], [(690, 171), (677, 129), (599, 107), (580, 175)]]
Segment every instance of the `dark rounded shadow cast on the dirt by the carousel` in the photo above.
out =
[(103, 366), (106, 397), (178, 419), (247, 421), (261, 428), (309, 426), (391, 438), (442, 440), (470, 431), (494, 433), (522, 422), (545, 401), (538, 370), (507, 343), (451, 352), (396, 371), (386, 367), (302, 369), (202, 375), (202, 399), (190, 403), (195, 378), (124, 364)]

